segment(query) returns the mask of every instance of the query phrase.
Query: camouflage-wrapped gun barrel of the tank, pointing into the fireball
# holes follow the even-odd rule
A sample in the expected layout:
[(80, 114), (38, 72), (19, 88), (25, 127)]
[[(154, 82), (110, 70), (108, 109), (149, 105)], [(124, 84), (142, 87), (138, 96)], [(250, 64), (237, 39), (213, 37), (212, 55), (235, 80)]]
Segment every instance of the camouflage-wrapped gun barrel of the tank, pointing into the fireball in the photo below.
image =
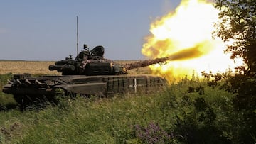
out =
[(157, 63), (163, 63), (163, 62), (166, 62), (167, 60), (169, 60), (169, 57), (161, 57), (161, 58), (156, 58), (153, 60), (142, 60), (139, 62), (126, 64), (126, 65), (124, 65), (124, 67), (126, 67), (127, 70), (132, 70), (132, 69), (136, 69), (139, 67), (146, 67), (149, 65), (157, 64)]

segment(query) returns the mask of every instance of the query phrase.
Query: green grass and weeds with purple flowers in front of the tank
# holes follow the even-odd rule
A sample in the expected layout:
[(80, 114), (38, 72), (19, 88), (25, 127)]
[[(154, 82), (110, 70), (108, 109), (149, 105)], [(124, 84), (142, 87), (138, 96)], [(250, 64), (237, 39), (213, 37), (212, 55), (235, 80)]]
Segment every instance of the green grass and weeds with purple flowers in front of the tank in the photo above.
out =
[(154, 94), (0, 111), (0, 143), (255, 143), (237, 96), (213, 83), (183, 79)]

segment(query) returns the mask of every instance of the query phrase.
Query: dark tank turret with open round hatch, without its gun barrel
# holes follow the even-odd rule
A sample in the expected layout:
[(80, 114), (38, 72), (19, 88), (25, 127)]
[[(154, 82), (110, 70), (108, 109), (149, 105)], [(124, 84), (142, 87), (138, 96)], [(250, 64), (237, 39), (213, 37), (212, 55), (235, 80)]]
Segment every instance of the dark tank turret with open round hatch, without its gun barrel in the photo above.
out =
[(50, 65), (49, 70), (57, 70), (63, 75), (116, 75), (127, 74), (127, 68), (112, 60), (104, 58), (104, 48), (99, 45), (89, 50), (84, 45), (84, 50), (79, 52), (75, 60), (68, 57), (65, 60)]

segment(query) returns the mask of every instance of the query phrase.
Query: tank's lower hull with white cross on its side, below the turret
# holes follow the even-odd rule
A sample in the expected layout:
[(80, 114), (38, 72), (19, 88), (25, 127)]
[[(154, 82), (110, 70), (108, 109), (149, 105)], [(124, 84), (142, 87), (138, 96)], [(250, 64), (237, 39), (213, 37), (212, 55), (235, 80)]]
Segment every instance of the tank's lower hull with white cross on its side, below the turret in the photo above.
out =
[(57, 89), (63, 94), (85, 96), (111, 96), (117, 93), (148, 92), (162, 87), (166, 80), (152, 75), (62, 75), (31, 77), (31, 74), (15, 74), (3, 88), (6, 94), (13, 94), (16, 101), (28, 99), (52, 99)]

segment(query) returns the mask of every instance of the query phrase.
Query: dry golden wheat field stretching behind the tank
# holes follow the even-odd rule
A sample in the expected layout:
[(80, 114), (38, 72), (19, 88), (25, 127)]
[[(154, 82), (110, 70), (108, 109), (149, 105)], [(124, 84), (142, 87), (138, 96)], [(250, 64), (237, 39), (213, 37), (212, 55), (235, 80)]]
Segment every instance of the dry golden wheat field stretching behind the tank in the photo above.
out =
[[(117, 60), (115, 61), (121, 65), (137, 62), (136, 60)], [(0, 60), (0, 74), (12, 73), (30, 73), (30, 74), (54, 74), (58, 75), (57, 71), (48, 70), (49, 65), (54, 65), (54, 61), (13, 61), (13, 60)], [(129, 70), (129, 74), (149, 74), (148, 67), (137, 68)]]

